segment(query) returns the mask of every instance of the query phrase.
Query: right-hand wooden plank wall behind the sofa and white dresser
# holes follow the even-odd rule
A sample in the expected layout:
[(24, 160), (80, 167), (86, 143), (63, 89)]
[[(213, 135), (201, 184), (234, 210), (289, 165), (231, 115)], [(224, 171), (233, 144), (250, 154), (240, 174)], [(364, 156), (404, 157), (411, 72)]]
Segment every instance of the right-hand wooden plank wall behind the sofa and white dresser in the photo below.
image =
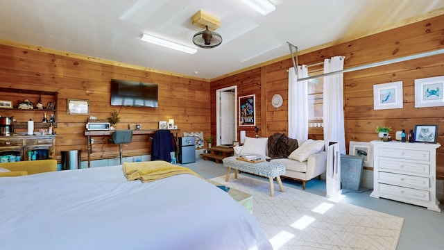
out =
[[(300, 64), (311, 65), (320, 63), (324, 58), (345, 56), (345, 69), (358, 65), (367, 65), (384, 60), (391, 60), (403, 56), (415, 55), (425, 51), (444, 49), (444, 15), (426, 19), (421, 22), (384, 31), (365, 38), (343, 42), (325, 49), (312, 51), (298, 57)], [(273, 133), (287, 133), (288, 131), (288, 72), (292, 67), (291, 59), (284, 59), (270, 65), (262, 65), (257, 69), (236, 74), (211, 82), (212, 96), (216, 89), (237, 85), (239, 94), (261, 94), (262, 110), (257, 113), (261, 121), (261, 136)], [(395, 131), (405, 129), (409, 131), (416, 124), (438, 124), (438, 142), (443, 147), (438, 149), (437, 176), (444, 178), (444, 107), (415, 108), (414, 79), (444, 75), (444, 55), (429, 56), (402, 63), (373, 67), (370, 69), (348, 72), (344, 74), (344, 113), (345, 113), (345, 141), (369, 142), (377, 140), (376, 126), (391, 126)], [(253, 74), (254, 73), (254, 74)], [(262, 74), (262, 75), (259, 75)], [(250, 83), (254, 75), (255, 88)], [(392, 110), (373, 110), (373, 85), (403, 82), (404, 108)], [(264, 92), (266, 94), (264, 94)], [(281, 94), (284, 104), (280, 108), (271, 106), (273, 94)], [(213, 99), (212, 99), (213, 100)], [(258, 106), (258, 100), (257, 104)], [(214, 112), (215, 106), (212, 105)], [(243, 127), (244, 128), (244, 127)], [(253, 129), (253, 128), (252, 128)], [(239, 130), (239, 128), (238, 128)], [(212, 133), (216, 131), (216, 124), (212, 120)], [(247, 131), (248, 136), (254, 135)], [(323, 139), (321, 128), (312, 128), (310, 138)], [(239, 135), (238, 135), (239, 136)]]

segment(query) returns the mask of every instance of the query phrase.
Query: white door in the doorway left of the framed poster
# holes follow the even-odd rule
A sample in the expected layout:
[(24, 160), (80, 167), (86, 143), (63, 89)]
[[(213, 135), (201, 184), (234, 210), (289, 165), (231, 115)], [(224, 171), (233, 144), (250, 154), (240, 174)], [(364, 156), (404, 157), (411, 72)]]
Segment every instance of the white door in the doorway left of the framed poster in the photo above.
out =
[(232, 144), (235, 140), (234, 92), (221, 92), (221, 144)]

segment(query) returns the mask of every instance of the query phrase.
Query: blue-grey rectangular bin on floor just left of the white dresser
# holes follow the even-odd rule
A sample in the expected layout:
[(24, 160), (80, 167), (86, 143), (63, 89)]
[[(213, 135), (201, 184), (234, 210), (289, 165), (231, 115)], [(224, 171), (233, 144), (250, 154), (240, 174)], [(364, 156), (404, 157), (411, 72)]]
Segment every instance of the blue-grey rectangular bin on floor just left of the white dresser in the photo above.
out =
[(364, 167), (363, 156), (341, 155), (341, 184), (345, 190), (359, 190)]

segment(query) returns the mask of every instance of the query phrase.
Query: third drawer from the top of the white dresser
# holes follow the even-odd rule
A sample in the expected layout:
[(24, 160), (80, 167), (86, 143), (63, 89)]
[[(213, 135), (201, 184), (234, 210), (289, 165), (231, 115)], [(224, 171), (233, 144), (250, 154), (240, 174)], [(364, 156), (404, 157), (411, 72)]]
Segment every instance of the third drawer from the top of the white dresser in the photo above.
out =
[(392, 174), (378, 172), (379, 183), (391, 185), (400, 185), (407, 188), (420, 188), (428, 190), (430, 188), (430, 179), (427, 177), (408, 176), (405, 174)]

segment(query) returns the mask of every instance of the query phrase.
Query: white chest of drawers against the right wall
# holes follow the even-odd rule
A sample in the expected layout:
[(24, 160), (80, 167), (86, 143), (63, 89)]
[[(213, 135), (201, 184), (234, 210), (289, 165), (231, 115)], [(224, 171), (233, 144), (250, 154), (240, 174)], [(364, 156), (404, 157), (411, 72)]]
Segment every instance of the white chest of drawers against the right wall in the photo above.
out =
[(436, 199), (436, 149), (439, 143), (382, 142), (373, 144), (373, 192), (441, 212)]

